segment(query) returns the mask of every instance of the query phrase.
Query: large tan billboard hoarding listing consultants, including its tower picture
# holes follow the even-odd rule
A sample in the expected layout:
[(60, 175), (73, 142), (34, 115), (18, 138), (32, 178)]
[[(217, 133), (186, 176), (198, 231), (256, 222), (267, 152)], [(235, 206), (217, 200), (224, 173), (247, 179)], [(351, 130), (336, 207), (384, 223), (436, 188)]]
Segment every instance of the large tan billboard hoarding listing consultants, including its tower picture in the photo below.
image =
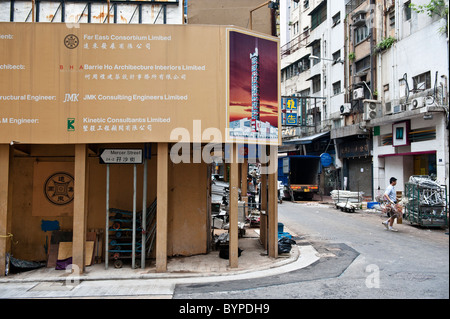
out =
[(0, 143), (280, 144), (277, 38), (227, 26), (0, 23), (0, 47)]

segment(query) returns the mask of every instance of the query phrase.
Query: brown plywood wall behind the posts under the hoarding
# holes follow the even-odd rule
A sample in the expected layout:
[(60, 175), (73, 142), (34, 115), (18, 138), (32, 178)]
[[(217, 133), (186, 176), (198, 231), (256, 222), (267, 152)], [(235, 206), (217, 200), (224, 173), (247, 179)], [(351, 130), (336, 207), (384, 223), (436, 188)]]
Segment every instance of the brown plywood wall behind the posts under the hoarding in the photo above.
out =
[[(120, 147), (124, 147), (120, 145)], [(125, 146), (126, 147), (126, 146)], [(134, 145), (134, 148), (139, 147)], [(58, 221), (60, 229), (72, 230), (72, 216), (33, 216), (33, 176), (36, 161), (73, 163), (73, 146), (32, 146), (31, 157), (15, 157), (13, 162), (12, 233), (15, 258), (47, 259), (51, 231), (41, 228), (43, 220)], [(148, 162), (147, 202), (156, 197), (156, 162)], [(55, 157), (56, 156), (56, 157)], [(97, 157), (89, 158), (87, 229), (105, 228), (106, 166)], [(169, 164), (168, 255), (195, 255), (207, 251), (207, 164)], [(137, 210), (142, 209), (143, 165), (137, 166)], [(110, 207), (133, 209), (133, 166), (110, 166)]]

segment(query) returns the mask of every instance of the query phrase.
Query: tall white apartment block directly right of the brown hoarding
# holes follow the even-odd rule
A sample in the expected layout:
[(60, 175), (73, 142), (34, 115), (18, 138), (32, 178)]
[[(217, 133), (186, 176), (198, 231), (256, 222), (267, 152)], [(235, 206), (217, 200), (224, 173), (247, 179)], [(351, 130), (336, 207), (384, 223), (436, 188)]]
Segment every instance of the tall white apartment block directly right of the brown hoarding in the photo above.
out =
[[(328, 153), (334, 158), (328, 168), (333, 176), (340, 163), (330, 132), (343, 125), (340, 107), (345, 102), (345, 1), (291, 0), (281, 9), (283, 4), (289, 8), (290, 41), (281, 48), (282, 96), (298, 98), (299, 125), (284, 127), (280, 151)], [(329, 182), (324, 174), (322, 185)], [(332, 184), (324, 189), (336, 187)]]

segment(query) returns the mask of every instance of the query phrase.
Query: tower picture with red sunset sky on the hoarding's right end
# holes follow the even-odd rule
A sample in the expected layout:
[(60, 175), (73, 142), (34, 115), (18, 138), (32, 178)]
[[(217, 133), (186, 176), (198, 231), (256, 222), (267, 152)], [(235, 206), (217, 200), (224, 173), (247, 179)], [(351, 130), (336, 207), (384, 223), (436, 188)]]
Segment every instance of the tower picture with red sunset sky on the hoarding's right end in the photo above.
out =
[(228, 32), (227, 141), (279, 144), (279, 43)]

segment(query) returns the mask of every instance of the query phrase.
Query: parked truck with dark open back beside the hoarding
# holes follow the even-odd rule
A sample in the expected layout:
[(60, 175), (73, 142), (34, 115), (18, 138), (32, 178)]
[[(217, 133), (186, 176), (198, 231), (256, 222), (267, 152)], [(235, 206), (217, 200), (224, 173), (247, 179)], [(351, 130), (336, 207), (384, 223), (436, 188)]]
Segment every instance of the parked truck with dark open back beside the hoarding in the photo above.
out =
[(278, 181), (283, 197), (311, 200), (319, 193), (320, 156), (289, 155), (278, 158)]

